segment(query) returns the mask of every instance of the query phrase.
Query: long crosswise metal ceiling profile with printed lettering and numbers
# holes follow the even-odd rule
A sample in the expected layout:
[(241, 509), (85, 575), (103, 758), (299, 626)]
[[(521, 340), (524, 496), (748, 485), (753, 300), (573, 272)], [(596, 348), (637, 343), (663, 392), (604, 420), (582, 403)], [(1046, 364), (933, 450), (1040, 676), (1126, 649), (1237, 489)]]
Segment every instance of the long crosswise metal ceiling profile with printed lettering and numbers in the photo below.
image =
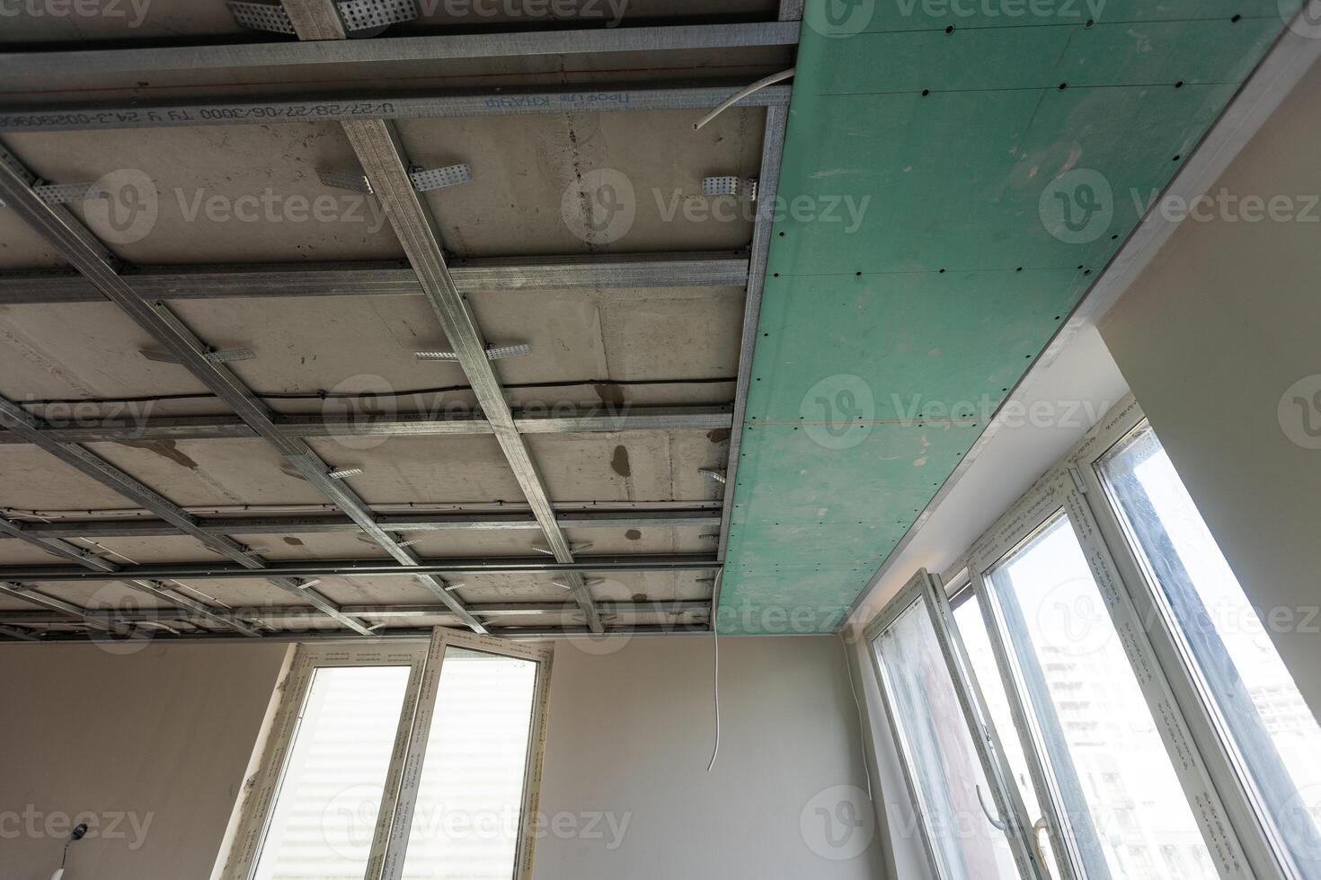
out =
[[(616, 111), (709, 110), (744, 82), (701, 86), (614, 83), (567, 86), (555, 91), (502, 90), (325, 98), (267, 96), (198, 102), (118, 100), (55, 108), (0, 107), (0, 133), (70, 132), (102, 128), (197, 128), (367, 119), (462, 119)], [(789, 86), (769, 86), (736, 107), (787, 107)]]

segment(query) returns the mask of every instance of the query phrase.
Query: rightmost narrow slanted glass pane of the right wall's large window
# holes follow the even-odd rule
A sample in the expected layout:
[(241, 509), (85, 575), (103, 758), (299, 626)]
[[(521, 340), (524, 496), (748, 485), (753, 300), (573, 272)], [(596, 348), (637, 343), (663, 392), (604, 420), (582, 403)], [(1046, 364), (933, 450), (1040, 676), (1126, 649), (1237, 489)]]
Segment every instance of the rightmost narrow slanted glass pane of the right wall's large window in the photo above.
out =
[[(1299, 873), (1321, 877), (1321, 727), (1156, 433), (1141, 426), (1098, 471), (1259, 810)], [(1285, 610), (1267, 620), (1301, 625), (1305, 613)]]

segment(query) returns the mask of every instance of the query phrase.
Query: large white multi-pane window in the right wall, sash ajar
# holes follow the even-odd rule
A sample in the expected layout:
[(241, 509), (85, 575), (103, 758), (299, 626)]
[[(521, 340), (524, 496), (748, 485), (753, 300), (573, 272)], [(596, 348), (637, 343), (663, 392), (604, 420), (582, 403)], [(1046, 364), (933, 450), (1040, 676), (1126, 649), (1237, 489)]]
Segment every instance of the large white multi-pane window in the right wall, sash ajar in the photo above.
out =
[[(868, 628), (942, 880), (1321, 880), (1321, 726), (1267, 632), (1318, 621), (1252, 608), (1136, 404), (959, 571)], [(1003, 842), (947, 819), (983, 788)]]

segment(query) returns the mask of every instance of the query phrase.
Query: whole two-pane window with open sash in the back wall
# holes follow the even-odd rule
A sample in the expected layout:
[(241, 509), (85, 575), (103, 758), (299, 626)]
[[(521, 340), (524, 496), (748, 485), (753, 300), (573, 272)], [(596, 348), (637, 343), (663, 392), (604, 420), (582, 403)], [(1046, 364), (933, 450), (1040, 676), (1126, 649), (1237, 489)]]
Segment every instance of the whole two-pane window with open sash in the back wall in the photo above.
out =
[(300, 646), (226, 880), (530, 876), (550, 649)]

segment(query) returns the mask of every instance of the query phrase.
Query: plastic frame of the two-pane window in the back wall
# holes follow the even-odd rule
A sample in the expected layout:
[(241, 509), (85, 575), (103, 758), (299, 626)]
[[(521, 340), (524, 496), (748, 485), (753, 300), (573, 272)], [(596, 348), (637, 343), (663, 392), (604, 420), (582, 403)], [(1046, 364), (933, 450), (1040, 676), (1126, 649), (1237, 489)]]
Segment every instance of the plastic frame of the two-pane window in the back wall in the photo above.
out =
[(400, 640), (376, 644), (299, 645), (281, 691), (273, 726), (258, 772), (244, 786), (238, 831), (221, 880), (248, 880), (262, 854), (267, 823), (280, 793), (281, 776), (297, 732), (299, 715), (317, 669), (336, 666), (408, 666), (408, 683), (395, 728), (386, 772), (380, 811), (373, 835), (365, 880), (399, 880), (403, 876), (413, 807), (421, 782), (428, 734), (440, 691), (440, 672), (446, 648), (462, 648), (499, 657), (530, 660), (538, 665), (528, 724), (527, 764), (523, 776), (520, 821), (511, 880), (531, 880), (536, 827), (531, 822), (540, 801), (546, 749), (547, 705), (553, 648), (550, 644), (511, 643), (494, 636), (437, 627), (429, 641)]

